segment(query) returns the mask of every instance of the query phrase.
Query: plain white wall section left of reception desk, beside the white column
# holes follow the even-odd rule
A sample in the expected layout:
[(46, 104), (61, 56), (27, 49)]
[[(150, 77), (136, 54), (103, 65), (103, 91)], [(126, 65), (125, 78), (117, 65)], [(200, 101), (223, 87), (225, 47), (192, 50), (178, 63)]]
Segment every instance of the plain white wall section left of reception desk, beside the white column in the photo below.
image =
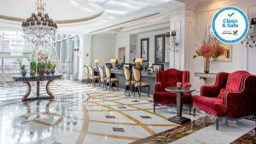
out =
[(115, 35), (101, 33), (92, 36), (91, 45), (91, 65), (95, 66), (94, 60), (101, 60), (100, 65), (109, 62), (111, 58), (115, 57)]

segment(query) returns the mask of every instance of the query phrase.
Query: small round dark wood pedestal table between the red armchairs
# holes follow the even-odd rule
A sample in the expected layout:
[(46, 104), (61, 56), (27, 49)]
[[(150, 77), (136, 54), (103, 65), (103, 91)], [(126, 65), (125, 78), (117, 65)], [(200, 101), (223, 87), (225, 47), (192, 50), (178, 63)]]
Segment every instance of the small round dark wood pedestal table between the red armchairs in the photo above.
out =
[(177, 94), (177, 116), (169, 118), (168, 120), (177, 123), (177, 124), (185, 124), (191, 121), (189, 118), (184, 118), (182, 115), (183, 111), (183, 93), (191, 93), (195, 91), (195, 89), (190, 89), (189, 87), (181, 87), (177, 88), (177, 86), (167, 87), (166, 91), (176, 93)]

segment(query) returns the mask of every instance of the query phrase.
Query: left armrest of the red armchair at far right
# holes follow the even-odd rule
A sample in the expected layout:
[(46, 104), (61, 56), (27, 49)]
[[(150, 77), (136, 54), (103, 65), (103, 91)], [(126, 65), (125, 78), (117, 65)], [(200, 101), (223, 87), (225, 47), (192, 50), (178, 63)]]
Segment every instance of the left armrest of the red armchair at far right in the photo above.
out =
[(201, 95), (207, 97), (217, 97), (219, 94), (220, 88), (216, 85), (204, 85), (201, 87)]

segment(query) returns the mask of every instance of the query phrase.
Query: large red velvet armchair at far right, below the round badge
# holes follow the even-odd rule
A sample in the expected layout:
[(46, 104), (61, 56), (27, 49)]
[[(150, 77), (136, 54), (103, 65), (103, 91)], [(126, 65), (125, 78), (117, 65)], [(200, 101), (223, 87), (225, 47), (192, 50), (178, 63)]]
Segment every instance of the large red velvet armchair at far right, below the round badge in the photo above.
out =
[(219, 118), (255, 115), (256, 76), (245, 71), (220, 72), (214, 85), (202, 86), (201, 95), (193, 96), (193, 106), (216, 117), (216, 130)]

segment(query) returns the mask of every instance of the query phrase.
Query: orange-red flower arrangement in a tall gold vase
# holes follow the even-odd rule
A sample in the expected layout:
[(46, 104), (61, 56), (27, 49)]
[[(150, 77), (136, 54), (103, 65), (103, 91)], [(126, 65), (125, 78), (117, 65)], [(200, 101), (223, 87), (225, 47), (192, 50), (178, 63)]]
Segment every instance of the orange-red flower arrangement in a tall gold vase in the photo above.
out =
[(224, 54), (224, 47), (218, 39), (212, 36), (209, 32), (205, 32), (204, 37), (201, 40), (201, 46), (195, 50), (193, 58), (201, 56), (204, 58), (204, 72), (210, 72), (210, 59), (218, 58), (218, 56)]

